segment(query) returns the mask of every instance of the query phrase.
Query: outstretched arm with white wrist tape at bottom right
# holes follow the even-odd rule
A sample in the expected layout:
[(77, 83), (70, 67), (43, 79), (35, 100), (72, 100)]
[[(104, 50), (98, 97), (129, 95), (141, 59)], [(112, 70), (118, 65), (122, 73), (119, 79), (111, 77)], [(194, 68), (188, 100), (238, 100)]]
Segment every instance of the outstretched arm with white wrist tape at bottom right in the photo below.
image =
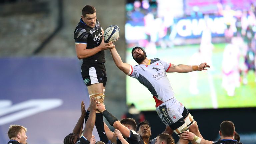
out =
[(184, 131), (181, 134), (180, 138), (182, 138), (184, 140), (194, 141), (198, 144), (214, 144), (214, 142), (197, 137), (195, 134), (193, 134), (192, 132), (189, 132), (189, 131)]

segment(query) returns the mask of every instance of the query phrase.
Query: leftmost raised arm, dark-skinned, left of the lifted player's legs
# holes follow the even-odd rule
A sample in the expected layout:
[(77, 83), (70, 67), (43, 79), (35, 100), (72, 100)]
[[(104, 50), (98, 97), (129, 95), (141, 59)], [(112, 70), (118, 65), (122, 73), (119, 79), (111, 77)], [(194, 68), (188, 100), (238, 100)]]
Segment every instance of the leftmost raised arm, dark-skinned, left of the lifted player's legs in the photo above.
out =
[(84, 101), (82, 101), (81, 102), (81, 116), (78, 119), (72, 133), (75, 133), (77, 135), (81, 134), (82, 129), (83, 129), (83, 124), (84, 124), (85, 113), (86, 113), (86, 111), (85, 111), (85, 108), (84, 108)]

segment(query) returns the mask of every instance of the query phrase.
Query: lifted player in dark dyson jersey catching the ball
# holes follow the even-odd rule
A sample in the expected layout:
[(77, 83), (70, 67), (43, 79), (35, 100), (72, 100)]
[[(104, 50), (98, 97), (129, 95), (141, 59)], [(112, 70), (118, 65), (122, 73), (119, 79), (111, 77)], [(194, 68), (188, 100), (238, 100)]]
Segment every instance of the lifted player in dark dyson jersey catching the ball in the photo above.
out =
[[(82, 9), (80, 22), (74, 31), (75, 48), (78, 59), (83, 59), (81, 74), (90, 98), (99, 99), (102, 103), (107, 82), (104, 50), (115, 47), (113, 42), (104, 43), (103, 34), (104, 30), (97, 19), (96, 9), (86, 5)], [(101, 121), (103, 116), (100, 112), (96, 111), (96, 113), (95, 126), (102, 141), (107, 143), (104, 124), (98, 124), (101, 123), (98, 121)]]

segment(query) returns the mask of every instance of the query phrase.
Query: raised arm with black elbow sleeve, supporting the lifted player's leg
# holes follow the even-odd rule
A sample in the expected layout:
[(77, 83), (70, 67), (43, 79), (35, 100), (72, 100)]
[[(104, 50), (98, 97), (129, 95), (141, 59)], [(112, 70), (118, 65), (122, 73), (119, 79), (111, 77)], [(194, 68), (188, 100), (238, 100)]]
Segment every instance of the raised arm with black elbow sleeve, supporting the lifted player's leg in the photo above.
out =
[(130, 129), (125, 127), (123, 124), (121, 124), (121, 122), (115, 116), (113, 116), (110, 112), (108, 112), (105, 109), (104, 104), (99, 103), (97, 107), (98, 107), (98, 110), (103, 114), (103, 116), (106, 118), (106, 120), (109, 122), (110, 125), (118, 129), (123, 134), (123, 136), (127, 138), (130, 137)]

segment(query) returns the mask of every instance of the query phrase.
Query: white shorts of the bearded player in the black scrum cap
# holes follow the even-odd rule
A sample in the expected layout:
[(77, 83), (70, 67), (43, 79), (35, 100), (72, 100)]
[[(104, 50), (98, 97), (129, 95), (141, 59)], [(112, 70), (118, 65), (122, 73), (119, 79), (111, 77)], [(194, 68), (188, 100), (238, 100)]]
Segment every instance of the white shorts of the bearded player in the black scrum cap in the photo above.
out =
[(166, 126), (170, 126), (182, 118), (184, 106), (182, 103), (172, 98), (156, 107), (156, 112)]

